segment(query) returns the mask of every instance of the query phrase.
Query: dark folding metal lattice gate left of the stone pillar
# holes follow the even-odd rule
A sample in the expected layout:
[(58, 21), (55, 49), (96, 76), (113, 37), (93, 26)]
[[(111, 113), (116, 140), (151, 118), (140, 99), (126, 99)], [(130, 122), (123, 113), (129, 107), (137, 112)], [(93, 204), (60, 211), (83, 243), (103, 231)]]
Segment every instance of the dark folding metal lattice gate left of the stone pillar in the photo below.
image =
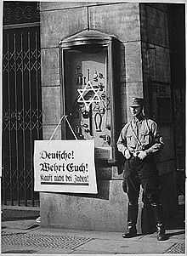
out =
[(39, 27), (3, 31), (3, 203), (38, 202), (33, 143), (42, 139)]

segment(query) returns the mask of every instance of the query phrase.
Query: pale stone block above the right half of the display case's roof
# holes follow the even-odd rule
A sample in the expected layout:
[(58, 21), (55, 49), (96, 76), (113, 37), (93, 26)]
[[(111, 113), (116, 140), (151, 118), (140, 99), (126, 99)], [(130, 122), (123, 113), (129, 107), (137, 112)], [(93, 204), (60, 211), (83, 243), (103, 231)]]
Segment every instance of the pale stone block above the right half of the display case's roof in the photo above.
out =
[(89, 8), (90, 28), (115, 35), (120, 41), (140, 40), (139, 3)]

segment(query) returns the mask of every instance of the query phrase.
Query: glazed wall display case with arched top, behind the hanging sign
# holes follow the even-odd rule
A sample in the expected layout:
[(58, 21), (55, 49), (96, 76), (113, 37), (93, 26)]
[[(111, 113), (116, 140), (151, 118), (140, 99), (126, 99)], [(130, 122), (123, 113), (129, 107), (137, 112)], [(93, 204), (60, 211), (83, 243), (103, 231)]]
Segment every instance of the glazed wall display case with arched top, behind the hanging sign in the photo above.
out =
[[(116, 161), (116, 38), (82, 31), (59, 43), (62, 115), (77, 139), (94, 139), (97, 158)], [(74, 139), (62, 123), (62, 139)]]

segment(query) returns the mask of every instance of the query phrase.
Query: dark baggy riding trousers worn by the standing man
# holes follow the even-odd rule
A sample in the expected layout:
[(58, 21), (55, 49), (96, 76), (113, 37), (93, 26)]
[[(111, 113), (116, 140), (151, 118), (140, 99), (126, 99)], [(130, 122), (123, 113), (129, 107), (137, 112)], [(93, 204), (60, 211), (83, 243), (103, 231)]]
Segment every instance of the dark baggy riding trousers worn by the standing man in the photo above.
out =
[(158, 174), (152, 156), (145, 157), (143, 161), (132, 156), (125, 162), (122, 186), (123, 191), (127, 193), (129, 205), (138, 205), (140, 185), (143, 188), (142, 201), (144, 205), (159, 205)]

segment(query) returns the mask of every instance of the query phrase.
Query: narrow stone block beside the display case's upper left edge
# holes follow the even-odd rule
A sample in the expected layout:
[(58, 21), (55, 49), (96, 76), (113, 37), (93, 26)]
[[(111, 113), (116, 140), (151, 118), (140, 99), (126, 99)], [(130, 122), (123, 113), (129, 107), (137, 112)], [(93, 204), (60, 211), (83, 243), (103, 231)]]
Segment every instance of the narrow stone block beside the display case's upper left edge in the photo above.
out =
[(42, 49), (42, 86), (59, 85), (59, 48)]

